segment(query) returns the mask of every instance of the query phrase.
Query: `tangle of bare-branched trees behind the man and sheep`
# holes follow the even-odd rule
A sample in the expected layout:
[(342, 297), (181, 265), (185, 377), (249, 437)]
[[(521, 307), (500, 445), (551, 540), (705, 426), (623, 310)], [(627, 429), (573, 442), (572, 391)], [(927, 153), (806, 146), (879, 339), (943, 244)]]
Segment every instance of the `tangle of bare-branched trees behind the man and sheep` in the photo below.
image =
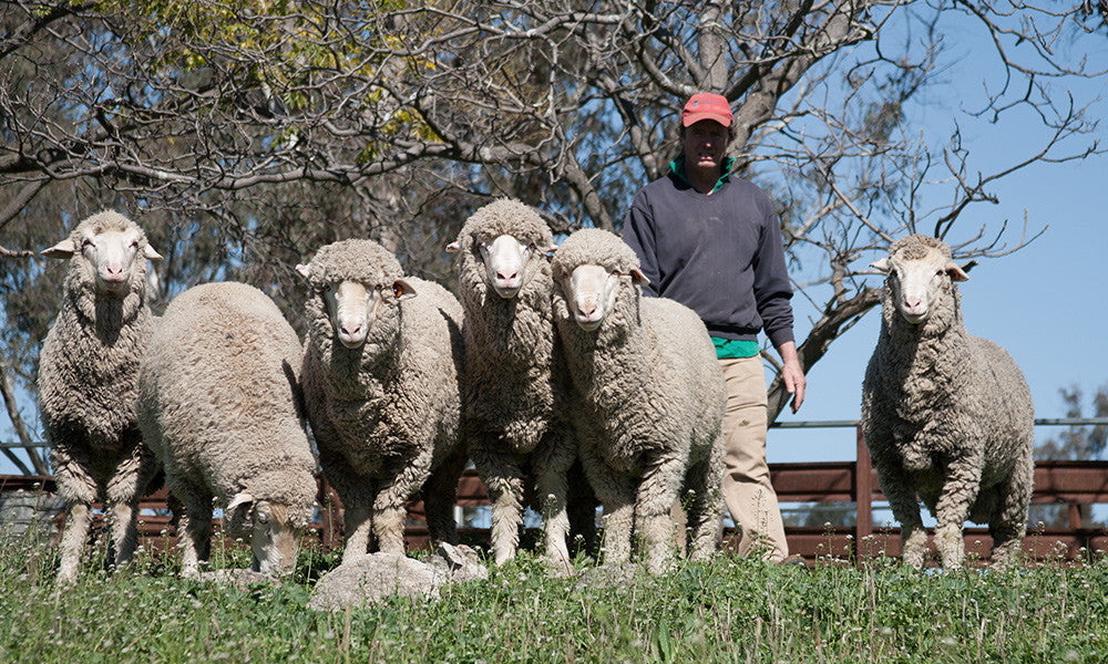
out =
[[(346, 232), (444, 278), (438, 242), (490, 196), (536, 205), (561, 230), (617, 229), (634, 191), (666, 172), (683, 101), (710, 90), (735, 107), (732, 156), (777, 199), (798, 297), (821, 312), (799, 347), (807, 371), (878, 302), (865, 264), (892, 238), (929, 232), (962, 260), (1003, 256), (1038, 228), (1009, 237), (966, 227), (963, 212), (995, 203), (1016, 170), (1102, 151), (1087, 103), (1066, 91), (1100, 73), (1083, 56), (1102, 44), (1089, 37), (1100, 4), (393, 7), (3, 2), (0, 247), (37, 248), (6, 229), (64, 188), (54, 200), (75, 210), (90, 193), (114, 196), (161, 219), (166, 238), (204, 229), (206, 258), (166, 268), (184, 270), (181, 283), (230, 271), (295, 298), (287, 261)], [(944, 37), (953, 25), (976, 31), (993, 73), (975, 105), (950, 104), (936, 136), (911, 108), (968, 49)], [(1049, 137), (982, 170), (960, 126), (1022, 111)], [(777, 381), (773, 416), (784, 402)]]

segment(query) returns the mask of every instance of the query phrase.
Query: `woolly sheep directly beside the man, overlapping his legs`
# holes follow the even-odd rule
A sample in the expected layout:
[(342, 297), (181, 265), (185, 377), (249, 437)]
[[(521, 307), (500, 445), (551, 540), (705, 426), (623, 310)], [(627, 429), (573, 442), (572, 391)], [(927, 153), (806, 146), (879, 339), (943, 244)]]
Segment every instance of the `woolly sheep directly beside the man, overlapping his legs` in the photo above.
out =
[(582, 463), (604, 506), (605, 562), (628, 560), (634, 523), (647, 568), (663, 571), (670, 508), (686, 495), (691, 556), (710, 557), (722, 535), (727, 391), (704, 323), (678, 302), (643, 298), (638, 259), (611, 232), (574, 232), (552, 269)]

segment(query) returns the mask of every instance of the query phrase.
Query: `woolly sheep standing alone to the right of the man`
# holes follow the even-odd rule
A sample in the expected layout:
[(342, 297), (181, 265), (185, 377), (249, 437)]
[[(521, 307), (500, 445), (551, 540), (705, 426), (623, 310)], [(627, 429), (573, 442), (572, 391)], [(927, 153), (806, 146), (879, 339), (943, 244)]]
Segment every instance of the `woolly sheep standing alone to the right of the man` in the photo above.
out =
[(872, 267), (886, 277), (862, 435), (901, 523), (904, 561), (923, 566), (919, 496), (937, 520), (943, 567), (962, 564), (966, 519), (988, 523), (1003, 566), (1019, 550), (1032, 495), (1027, 383), (1007, 352), (966, 332), (955, 282), (968, 277), (944, 242), (909, 236)]

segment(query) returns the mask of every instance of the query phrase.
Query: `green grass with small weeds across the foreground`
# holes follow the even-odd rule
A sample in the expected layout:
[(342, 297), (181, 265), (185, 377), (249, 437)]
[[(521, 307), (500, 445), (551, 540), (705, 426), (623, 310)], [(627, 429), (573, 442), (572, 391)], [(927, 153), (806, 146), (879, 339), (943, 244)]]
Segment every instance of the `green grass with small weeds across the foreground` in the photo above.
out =
[[(101, 552), (93, 558), (101, 557)], [(213, 567), (244, 567), (217, 548)], [(174, 553), (55, 593), (57, 551), (0, 541), (0, 662), (1099, 662), (1108, 562), (1003, 573), (780, 568), (720, 554), (659, 578), (577, 588), (529, 554), (439, 601), (306, 604), (335, 554), (246, 591), (184, 581)], [(592, 563), (579, 561), (584, 569)]]

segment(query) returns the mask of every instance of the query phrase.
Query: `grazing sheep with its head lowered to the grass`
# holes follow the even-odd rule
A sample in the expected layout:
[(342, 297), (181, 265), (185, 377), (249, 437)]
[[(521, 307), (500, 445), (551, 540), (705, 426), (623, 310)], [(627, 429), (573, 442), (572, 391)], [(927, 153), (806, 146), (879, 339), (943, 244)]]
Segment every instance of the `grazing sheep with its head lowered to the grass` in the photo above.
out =
[(212, 502), (227, 530), (250, 536), (253, 569), (286, 573), (315, 508), (305, 432), (302, 350), (268, 295), (245, 283), (197, 286), (170, 303), (143, 359), (138, 425), (184, 504), (182, 575), (197, 578)]

